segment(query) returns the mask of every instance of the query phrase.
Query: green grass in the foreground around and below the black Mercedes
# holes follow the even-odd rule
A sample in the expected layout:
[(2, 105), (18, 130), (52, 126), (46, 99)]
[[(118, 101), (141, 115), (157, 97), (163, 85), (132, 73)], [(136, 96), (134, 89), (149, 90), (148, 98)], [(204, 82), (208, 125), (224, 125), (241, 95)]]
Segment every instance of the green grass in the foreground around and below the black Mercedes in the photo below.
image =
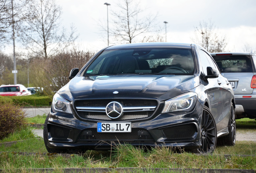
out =
[[(46, 116), (35, 117), (35, 119), (31, 120), (31, 123), (34, 123), (41, 118), (45, 119)], [(248, 129), (248, 127), (253, 130), (255, 129), (255, 126), (255, 121), (237, 121), (238, 131), (241, 129)], [(0, 143), (21, 139), (23, 139), (23, 141), (17, 142), (10, 147), (0, 146), (0, 169), (2, 169), (2, 172), (16, 172), (17, 168), (21, 169), (21, 172), (34, 172), (28, 170), (33, 168), (54, 168), (54, 172), (61, 173), (63, 172), (62, 168), (68, 167), (256, 170), (256, 142), (253, 141), (237, 141), (235, 146), (217, 147), (215, 152), (210, 155), (195, 155), (184, 151), (177, 153), (169, 147), (157, 147), (149, 151), (145, 151), (131, 145), (118, 145), (117, 148), (112, 151), (87, 151), (83, 155), (68, 155), (69, 157), (65, 157), (62, 155), (41, 154), (47, 153), (43, 139), (35, 136), (31, 131), (31, 128), (28, 128), (19, 133), (10, 135), (8, 138), (0, 141)], [(35, 154), (25, 155), (24, 153)]]

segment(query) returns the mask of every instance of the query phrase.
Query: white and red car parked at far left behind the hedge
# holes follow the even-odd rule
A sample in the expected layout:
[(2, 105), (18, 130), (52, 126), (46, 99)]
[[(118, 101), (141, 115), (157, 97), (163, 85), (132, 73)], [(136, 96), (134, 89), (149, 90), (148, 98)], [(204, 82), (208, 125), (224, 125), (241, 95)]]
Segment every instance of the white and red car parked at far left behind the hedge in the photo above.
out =
[(1, 96), (24, 96), (24, 95), (31, 95), (31, 93), (22, 84), (16, 84), (16, 85), (1, 85), (0, 95)]

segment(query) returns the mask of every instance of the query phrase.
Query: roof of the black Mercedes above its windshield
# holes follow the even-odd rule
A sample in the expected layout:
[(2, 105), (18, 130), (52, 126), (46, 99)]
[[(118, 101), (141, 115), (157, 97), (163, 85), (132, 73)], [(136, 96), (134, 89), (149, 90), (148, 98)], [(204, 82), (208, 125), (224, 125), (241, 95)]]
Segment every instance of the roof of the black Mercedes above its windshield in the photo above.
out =
[(169, 43), (169, 42), (147, 42), (147, 43), (130, 43), (115, 46), (109, 46), (105, 50), (122, 49), (122, 48), (191, 48), (192, 44), (186, 43)]

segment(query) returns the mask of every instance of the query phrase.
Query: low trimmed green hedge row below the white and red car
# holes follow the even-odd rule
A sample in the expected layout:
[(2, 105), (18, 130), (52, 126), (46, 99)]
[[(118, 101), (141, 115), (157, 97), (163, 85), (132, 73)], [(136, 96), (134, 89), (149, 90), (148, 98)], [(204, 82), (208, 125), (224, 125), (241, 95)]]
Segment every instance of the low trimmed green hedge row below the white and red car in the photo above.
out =
[(52, 103), (52, 99), (47, 96), (4, 96), (0, 97), (0, 102), (8, 102), (8, 103), (17, 103), (21, 106), (50, 106)]

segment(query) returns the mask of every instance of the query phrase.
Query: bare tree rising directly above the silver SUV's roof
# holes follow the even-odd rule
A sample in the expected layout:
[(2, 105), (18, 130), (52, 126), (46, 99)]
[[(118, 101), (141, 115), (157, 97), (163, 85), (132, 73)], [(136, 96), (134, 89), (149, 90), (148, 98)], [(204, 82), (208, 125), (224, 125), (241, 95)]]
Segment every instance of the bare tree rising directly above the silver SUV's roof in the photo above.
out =
[(227, 46), (226, 38), (220, 37), (216, 32), (215, 26), (203, 21), (199, 23), (199, 27), (195, 29), (195, 41), (203, 46), (209, 52), (224, 52)]

